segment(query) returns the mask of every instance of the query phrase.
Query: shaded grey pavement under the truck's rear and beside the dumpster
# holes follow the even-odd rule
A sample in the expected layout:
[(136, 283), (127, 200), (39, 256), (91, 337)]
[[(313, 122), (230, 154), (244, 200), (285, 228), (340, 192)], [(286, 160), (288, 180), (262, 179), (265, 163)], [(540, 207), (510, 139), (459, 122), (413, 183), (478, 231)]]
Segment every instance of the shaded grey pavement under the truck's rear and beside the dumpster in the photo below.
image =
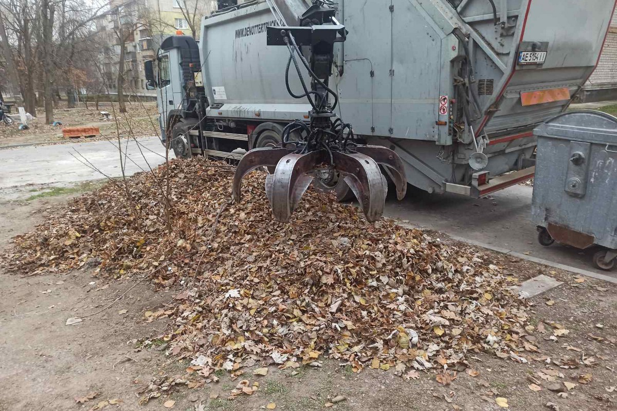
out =
[(617, 271), (600, 271), (592, 265), (595, 248), (578, 250), (557, 243), (544, 247), (537, 242), (536, 226), (531, 222), (532, 193), (533, 187), (514, 185), (476, 199), (452, 193), (429, 194), (409, 187), (403, 201), (397, 201), (392, 193), (388, 195), (384, 215), (455, 240), (617, 282)]

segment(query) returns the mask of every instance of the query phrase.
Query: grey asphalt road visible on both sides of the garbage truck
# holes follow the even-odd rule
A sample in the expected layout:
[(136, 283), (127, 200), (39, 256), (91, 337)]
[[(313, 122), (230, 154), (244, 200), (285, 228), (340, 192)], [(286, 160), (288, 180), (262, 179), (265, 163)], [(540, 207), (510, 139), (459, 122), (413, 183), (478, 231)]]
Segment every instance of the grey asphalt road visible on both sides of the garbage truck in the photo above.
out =
[[(165, 161), (165, 149), (157, 137), (138, 141), (139, 144), (129, 141), (123, 147), (133, 160), (126, 161), (127, 175)], [(110, 177), (122, 176), (118, 149), (108, 141), (0, 150), (0, 201), (28, 197), (33, 188), (67, 186), (103, 178), (101, 173), (73, 156), (83, 162), (87, 159)], [(389, 195), (386, 216), (499, 250), (606, 275), (592, 267), (593, 253), (590, 251), (560, 245), (545, 248), (537, 243), (536, 227), (529, 220), (531, 195), (532, 187), (523, 185), (477, 200), (453, 194), (429, 195), (410, 189), (407, 198), (400, 202), (392, 193)], [(617, 272), (611, 277), (617, 279)]]

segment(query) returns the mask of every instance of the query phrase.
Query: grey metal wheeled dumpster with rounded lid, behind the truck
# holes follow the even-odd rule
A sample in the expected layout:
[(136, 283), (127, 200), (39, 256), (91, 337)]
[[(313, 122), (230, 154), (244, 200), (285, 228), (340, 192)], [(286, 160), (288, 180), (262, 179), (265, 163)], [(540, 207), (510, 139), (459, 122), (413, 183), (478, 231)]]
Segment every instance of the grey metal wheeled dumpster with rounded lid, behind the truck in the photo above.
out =
[(538, 138), (532, 219), (540, 244), (600, 246), (594, 265), (617, 258), (617, 118), (594, 110), (558, 115)]

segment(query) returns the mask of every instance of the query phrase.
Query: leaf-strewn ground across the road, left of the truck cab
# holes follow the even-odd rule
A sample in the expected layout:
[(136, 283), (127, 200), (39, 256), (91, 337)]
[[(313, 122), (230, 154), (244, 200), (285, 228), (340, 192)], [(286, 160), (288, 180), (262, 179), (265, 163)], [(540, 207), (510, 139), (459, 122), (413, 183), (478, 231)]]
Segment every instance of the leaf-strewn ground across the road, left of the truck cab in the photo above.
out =
[[(118, 104), (100, 103), (99, 110), (94, 104), (88, 104), (88, 108), (60, 108), (54, 110), (54, 119), (60, 121), (62, 126), (45, 124), (43, 110), (38, 117), (28, 123), (27, 130), (19, 130), (19, 121), (11, 126), (0, 123), (0, 147), (19, 144), (40, 144), (50, 142), (72, 142), (79, 139), (65, 139), (62, 136), (62, 128), (78, 126), (94, 126), (101, 130), (100, 136), (88, 137), (87, 140), (109, 139), (118, 136), (134, 135), (135, 137), (153, 136), (159, 133), (158, 112), (154, 102), (130, 102), (126, 104), (128, 113), (121, 114)], [(16, 112), (16, 109), (14, 110)], [(105, 120), (101, 112), (110, 113), (110, 120)], [(115, 113), (115, 115), (114, 115)], [(117, 118), (118, 121), (115, 121)]]

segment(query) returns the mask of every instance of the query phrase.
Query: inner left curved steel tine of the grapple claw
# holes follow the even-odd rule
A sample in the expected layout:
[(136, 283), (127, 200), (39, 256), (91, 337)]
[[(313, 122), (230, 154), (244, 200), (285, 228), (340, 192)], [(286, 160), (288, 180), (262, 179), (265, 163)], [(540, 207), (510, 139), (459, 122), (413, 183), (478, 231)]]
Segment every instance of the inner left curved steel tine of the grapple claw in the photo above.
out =
[(275, 218), (288, 222), (300, 197), (309, 187), (312, 177), (305, 176), (313, 171), (321, 151), (307, 154), (291, 153), (281, 158), (272, 176), (272, 195), (270, 205)]

